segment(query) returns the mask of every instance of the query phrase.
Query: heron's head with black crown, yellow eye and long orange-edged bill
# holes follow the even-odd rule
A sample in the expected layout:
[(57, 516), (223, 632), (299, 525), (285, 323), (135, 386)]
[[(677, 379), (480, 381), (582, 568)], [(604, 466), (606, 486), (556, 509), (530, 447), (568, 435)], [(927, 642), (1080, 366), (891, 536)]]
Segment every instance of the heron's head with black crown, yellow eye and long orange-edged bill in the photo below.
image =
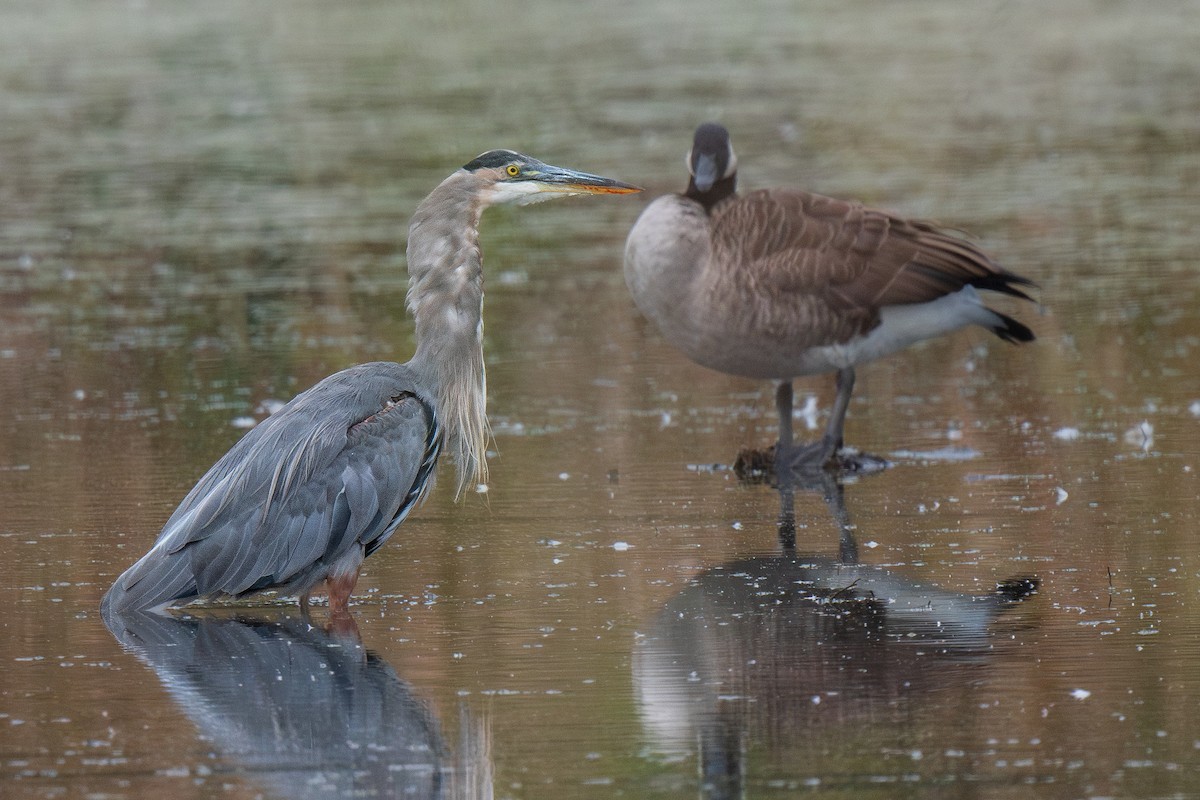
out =
[(571, 194), (630, 194), (642, 190), (611, 178), (554, 167), (512, 150), (488, 150), (463, 169), (487, 181), (490, 203), (528, 205)]

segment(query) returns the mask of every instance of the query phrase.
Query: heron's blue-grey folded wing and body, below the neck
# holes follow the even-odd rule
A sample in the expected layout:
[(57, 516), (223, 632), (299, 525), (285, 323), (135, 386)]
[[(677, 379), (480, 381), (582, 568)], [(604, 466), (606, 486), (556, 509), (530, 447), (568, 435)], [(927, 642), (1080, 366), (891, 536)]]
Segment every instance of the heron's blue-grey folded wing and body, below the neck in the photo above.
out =
[(439, 447), (432, 403), (407, 367), (331, 375), (214, 464), (104, 603), (306, 593), (349, 548), (371, 553), (390, 536), (424, 495)]

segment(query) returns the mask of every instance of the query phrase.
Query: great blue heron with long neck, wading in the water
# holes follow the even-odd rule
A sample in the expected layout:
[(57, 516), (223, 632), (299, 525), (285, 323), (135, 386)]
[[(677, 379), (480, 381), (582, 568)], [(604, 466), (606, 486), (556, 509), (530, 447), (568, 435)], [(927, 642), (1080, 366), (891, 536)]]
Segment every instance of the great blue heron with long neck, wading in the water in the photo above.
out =
[(268, 589), (299, 595), (307, 610), (323, 582), (331, 615), (347, 616), (362, 559), (428, 492), (443, 445), (460, 494), (486, 479), (484, 209), (637, 191), (511, 150), (485, 152), (442, 181), (408, 229), (412, 360), (343, 369), (247, 433), (108, 590), (106, 618)]

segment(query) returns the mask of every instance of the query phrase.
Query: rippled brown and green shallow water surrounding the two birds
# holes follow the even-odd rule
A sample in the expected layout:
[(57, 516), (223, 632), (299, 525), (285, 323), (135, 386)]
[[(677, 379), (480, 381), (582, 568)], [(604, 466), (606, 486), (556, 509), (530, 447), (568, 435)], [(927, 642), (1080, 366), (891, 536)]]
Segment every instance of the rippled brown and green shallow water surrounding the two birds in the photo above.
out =
[[(0, 794), (1200, 794), (1198, 23), (0, 10)], [(781, 548), (779, 494), (726, 467), (770, 387), (688, 363), (623, 284), (709, 118), (744, 186), (936, 216), (1040, 284), (1004, 306), (1032, 345), (859, 371), (847, 438), (895, 465), (844, 487), (857, 565), (821, 491)], [(648, 191), (485, 218), (487, 493), (443, 464), (360, 642), (281, 602), (122, 646), (101, 594), (245, 427), (412, 353), (408, 215), (494, 146)], [(797, 390), (823, 422), (832, 380)]]

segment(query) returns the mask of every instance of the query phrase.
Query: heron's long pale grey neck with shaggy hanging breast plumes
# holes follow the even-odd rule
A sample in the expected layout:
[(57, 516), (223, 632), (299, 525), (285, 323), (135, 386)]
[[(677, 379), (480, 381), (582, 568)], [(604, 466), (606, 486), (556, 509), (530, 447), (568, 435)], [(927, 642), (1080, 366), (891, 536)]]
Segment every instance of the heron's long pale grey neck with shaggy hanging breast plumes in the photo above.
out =
[(408, 311), (416, 320), (410, 366), (431, 384), (457, 493), (487, 480), (484, 261), (479, 179), (460, 170), (426, 197), (408, 228)]

